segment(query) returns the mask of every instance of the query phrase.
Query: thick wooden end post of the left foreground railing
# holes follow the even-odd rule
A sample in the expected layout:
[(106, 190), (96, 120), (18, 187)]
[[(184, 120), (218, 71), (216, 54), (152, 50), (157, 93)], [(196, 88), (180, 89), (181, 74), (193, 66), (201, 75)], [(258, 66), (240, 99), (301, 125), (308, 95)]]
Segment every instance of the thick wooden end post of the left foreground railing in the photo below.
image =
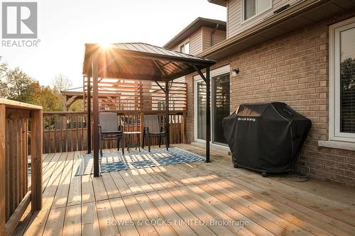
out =
[(42, 208), (42, 110), (31, 111), (31, 210)]

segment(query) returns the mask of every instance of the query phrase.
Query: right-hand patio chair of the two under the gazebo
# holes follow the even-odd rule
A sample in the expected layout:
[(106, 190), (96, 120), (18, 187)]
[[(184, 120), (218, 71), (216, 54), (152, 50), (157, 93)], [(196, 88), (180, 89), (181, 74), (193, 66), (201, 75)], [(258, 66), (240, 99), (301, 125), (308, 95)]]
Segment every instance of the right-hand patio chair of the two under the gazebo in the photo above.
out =
[(143, 142), (142, 148), (144, 148), (144, 139), (148, 140), (148, 152), (151, 152), (151, 137), (159, 137), (159, 147), (161, 144), (161, 138), (165, 137), (166, 150), (168, 150), (168, 135), (159, 123), (158, 115), (144, 115), (144, 128), (143, 128)]

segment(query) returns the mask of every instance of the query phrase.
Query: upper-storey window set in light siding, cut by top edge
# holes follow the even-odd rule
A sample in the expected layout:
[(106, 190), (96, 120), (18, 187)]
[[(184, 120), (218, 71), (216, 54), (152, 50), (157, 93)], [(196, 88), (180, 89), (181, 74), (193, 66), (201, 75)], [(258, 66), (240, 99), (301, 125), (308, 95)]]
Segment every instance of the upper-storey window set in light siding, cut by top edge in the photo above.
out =
[(244, 21), (271, 9), (272, 5), (272, 0), (243, 0)]

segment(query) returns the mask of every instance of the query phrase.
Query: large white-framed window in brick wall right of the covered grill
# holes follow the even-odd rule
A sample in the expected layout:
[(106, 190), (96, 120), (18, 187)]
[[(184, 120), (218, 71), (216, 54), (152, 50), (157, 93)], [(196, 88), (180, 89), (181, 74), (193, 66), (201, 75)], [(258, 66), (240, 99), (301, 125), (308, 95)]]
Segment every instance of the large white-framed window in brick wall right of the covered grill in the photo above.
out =
[(355, 18), (329, 27), (329, 139), (355, 142)]

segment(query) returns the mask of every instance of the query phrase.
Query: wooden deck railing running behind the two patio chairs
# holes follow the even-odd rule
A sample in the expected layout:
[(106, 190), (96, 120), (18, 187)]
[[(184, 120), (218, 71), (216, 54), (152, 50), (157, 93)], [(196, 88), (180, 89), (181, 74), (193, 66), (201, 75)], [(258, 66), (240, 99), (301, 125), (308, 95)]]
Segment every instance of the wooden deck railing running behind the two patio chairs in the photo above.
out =
[[(104, 112), (104, 111), (102, 111)], [(142, 131), (143, 114), (160, 116), (163, 123), (164, 111), (109, 111), (117, 113), (119, 123), (125, 131)], [(170, 120), (170, 143), (185, 142), (185, 111), (172, 111)], [(72, 152), (87, 150), (86, 112), (45, 112), (43, 113), (43, 153)], [(93, 130), (93, 129), (92, 129)], [(133, 142), (136, 142), (133, 137)], [(164, 140), (162, 144), (164, 143)], [(152, 140), (158, 145), (158, 138)], [(104, 140), (103, 148), (116, 148), (116, 140)]]

